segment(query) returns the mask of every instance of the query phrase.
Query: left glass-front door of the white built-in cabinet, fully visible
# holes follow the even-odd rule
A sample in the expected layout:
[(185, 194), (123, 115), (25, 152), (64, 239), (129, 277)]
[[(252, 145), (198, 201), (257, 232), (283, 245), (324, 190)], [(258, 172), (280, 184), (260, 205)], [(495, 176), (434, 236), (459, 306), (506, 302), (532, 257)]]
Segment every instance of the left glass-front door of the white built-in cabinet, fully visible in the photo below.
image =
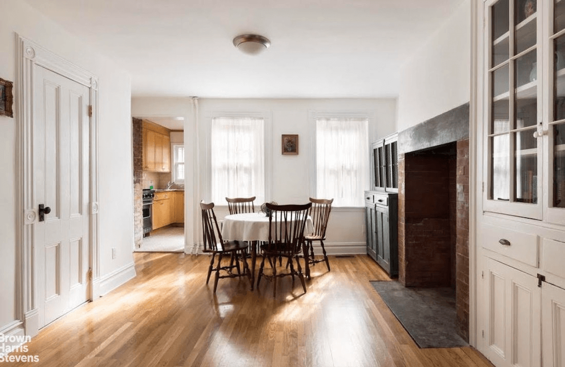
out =
[(543, 38), (537, 1), (493, 0), (485, 2), (485, 11), (484, 209), (542, 219)]

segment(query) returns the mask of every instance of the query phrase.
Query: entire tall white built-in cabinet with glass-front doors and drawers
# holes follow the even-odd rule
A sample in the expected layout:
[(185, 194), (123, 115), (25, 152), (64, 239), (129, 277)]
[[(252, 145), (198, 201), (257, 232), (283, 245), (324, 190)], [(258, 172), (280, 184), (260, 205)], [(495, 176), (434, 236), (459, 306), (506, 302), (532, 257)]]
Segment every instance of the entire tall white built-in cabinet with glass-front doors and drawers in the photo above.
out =
[(479, 2), (477, 347), (565, 365), (565, 1)]

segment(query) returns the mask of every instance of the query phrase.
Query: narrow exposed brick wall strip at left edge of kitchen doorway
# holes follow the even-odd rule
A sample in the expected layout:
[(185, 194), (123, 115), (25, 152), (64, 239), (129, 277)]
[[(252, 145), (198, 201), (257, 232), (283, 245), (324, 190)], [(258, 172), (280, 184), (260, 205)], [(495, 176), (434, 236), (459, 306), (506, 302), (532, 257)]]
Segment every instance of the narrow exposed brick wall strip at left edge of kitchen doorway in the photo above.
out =
[(132, 121), (133, 145), (133, 240), (136, 247), (143, 240), (143, 130), (140, 119)]

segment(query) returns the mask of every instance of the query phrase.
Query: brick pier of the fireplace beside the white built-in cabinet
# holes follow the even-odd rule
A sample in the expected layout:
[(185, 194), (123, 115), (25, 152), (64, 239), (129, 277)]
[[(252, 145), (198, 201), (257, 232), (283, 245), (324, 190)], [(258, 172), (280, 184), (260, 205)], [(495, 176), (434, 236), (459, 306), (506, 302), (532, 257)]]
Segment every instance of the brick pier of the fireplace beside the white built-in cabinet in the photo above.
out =
[(457, 142), (457, 331), (469, 341), (469, 140)]

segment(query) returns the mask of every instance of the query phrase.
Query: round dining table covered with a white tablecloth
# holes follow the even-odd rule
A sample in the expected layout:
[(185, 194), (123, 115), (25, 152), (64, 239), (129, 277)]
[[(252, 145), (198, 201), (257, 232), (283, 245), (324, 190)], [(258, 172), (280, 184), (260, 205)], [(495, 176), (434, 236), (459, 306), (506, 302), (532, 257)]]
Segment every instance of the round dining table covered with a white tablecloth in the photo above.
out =
[[(251, 290), (253, 290), (255, 284), (256, 242), (267, 242), (269, 240), (269, 224), (269, 216), (265, 213), (239, 213), (226, 215), (221, 227), (221, 237), (224, 240), (249, 241), (253, 243), (251, 246)], [(310, 215), (308, 215), (304, 234), (311, 234), (312, 232), (314, 232), (314, 223)]]

